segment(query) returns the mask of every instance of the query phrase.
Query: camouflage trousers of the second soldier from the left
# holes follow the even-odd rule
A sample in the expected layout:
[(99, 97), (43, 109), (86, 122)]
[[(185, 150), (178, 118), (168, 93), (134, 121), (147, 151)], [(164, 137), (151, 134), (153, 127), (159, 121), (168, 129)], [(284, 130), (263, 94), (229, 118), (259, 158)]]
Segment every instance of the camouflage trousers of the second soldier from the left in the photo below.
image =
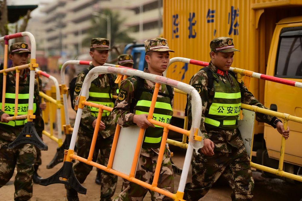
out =
[[(77, 155), (82, 158), (88, 158), (89, 150), (91, 146), (92, 138), (84, 136), (83, 134), (79, 133), (77, 146), (78, 151)], [(92, 161), (95, 162), (98, 158), (98, 153), (100, 151), (101, 157), (101, 165), (107, 166), (110, 151), (112, 147), (113, 136), (108, 138), (101, 138), (98, 139), (95, 143), (95, 150), (93, 152)], [(79, 180), (80, 183), (83, 183), (92, 171), (93, 166), (85, 164), (83, 162), (79, 162), (73, 166), (73, 171), (76, 175), (76, 178)], [(90, 181), (92, 182), (92, 181)], [(94, 182), (94, 181), (93, 181)], [(117, 184), (117, 176), (106, 171), (101, 171), (101, 201), (111, 201), (111, 197), (113, 196)], [(69, 187), (71, 188), (71, 187)]]

